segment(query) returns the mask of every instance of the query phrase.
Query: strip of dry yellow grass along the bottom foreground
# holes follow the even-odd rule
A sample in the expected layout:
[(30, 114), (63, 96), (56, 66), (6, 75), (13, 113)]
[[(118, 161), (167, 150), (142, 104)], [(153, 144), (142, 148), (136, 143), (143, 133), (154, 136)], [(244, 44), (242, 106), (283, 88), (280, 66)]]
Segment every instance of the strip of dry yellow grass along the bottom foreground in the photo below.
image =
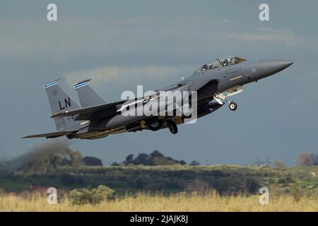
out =
[(218, 196), (215, 193), (196, 194), (138, 194), (105, 201), (97, 206), (73, 206), (68, 198), (57, 205), (47, 204), (46, 196), (0, 195), (1, 211), (318, 211), (318, 197), (302, 197), (295, 202), (293, 196), (272, 196), (268, 205), (259, 204), (259, 196)]

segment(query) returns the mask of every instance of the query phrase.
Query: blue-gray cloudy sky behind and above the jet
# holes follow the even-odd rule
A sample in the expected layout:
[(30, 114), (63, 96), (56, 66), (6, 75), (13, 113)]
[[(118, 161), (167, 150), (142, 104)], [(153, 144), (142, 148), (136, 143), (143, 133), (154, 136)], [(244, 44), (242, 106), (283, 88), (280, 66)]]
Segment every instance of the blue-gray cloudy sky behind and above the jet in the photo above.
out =
[[(47, 5), (57, 4), (57, 21)], [(269, 4), (269, 21), (259, 5)], [(90, 85), (109, 102), (136, 85), (155, 90), (190, 76), (207, 61), (234, 55), (295, 63), (245, 85), (237, 111), (227, 106), (179, 126), (72, 141), (104, 165), (130, 153), (159, 150), (201, 164), (249, 165), (317, 153), (317, 1), (0, 1), (0, 158), (25, 153), (55, 131), (42, 85), (59, 84), (75, 100), (73, 83)]]

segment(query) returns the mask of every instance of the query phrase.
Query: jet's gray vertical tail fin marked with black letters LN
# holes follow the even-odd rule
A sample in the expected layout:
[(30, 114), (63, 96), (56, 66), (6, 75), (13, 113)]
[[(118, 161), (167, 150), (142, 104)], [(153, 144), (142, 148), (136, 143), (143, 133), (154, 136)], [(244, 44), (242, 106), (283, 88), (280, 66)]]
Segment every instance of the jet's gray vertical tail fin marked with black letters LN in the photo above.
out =
[[(62, 90), (57, 81), (52, 81), (44, 85), (49, 98), (49, 105), (52, 114), (81, 108), (64, 90)], [(73, 117), (55, 117), (55, 126), (57, 131), (71, 131), (80, 128), (81, 121), (74, 121)]]

